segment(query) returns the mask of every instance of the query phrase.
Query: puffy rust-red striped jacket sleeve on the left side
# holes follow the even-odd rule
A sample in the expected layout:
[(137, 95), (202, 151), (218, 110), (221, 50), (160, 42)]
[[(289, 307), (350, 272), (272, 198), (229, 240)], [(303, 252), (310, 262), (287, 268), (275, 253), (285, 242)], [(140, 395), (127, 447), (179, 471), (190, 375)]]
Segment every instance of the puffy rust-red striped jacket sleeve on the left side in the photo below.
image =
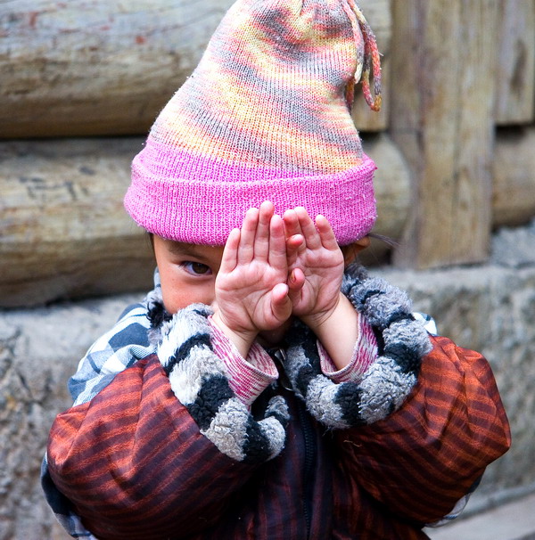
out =
[(99, 540), (185, 538), (251, 474), (241, 463), (236, 479), (236, 462), (202, 436), (155, 356), (63, 413), (48, 462), (71, 511)]

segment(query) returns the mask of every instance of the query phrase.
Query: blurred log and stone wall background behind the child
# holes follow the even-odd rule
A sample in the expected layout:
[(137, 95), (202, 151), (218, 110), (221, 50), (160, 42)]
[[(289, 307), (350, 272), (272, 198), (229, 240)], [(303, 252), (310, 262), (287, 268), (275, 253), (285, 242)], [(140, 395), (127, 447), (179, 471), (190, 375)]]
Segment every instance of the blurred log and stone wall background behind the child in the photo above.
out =
[[(38, 483), (48, 430), (79, 358), (152, 288), (130, 161), (231, 4), (0, 0), (0, 540), (66, 537)], [(394, 243), (363, 262), (489, 358), (512, 425), (468, 523), (535, 501), (535, 0), (359, 4), (383, 110), (357, 88), (353, 117)], [(429, 534), (535, 537), (499, 516), (498, 536)]]

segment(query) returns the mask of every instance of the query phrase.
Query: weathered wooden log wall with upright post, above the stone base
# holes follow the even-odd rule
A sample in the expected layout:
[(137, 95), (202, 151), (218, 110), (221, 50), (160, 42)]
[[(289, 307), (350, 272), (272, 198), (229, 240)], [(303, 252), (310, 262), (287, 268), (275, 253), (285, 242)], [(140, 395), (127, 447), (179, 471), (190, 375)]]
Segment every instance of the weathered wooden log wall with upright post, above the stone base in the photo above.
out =
[[(232, 1), (0, 2), (0, 307), (150, 285), (129, 162)], [(353, 110), (376, 232), (399, 266), (484, 261), (535, 216), (535, 0), (359, 4), (383, 52), (383, 111)]]

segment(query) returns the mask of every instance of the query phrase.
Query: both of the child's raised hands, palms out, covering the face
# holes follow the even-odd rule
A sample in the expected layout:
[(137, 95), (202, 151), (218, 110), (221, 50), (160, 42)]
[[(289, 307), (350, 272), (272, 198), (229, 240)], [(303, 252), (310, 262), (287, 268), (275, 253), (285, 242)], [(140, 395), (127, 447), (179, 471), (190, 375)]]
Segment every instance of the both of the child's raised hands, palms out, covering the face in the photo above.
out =
[[(330, 344), (333, 362), (343, 367), (357, 339), (357, 315), (351, 306), (348, 312), (341, 292), (343, 267), (342, 250), (325, 217), (314, 222), (297, 207), (283, 220), (265, 201), (247, 212), (242, 228), (226, 241), (213, 321), (246, 357), (259, 332), (284, 331), (290, 317), (299, 316), (318, 340)], [(350, 344), (342, 352), (341, 340)]]

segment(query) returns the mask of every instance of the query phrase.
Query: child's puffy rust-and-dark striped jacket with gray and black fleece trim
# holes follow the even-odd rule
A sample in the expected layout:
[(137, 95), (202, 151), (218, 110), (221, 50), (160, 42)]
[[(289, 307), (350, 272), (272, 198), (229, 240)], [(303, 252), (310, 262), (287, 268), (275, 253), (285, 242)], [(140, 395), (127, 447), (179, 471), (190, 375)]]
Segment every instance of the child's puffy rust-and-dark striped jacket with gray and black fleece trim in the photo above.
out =
[(295, 323), (252, 404), (233, 389), (207, 307), (171, 317), (157, 287), (130, 310), (121, 338), (80, 364), (75, 404), (51, 430), (43, 485), (70, 534), (426, 538), (424, 524), (510, 444), (490, 366), (429, 336), (407, 296), (361, 268), (343, 292), (374, 330), (374, 362), (333, 380)]

